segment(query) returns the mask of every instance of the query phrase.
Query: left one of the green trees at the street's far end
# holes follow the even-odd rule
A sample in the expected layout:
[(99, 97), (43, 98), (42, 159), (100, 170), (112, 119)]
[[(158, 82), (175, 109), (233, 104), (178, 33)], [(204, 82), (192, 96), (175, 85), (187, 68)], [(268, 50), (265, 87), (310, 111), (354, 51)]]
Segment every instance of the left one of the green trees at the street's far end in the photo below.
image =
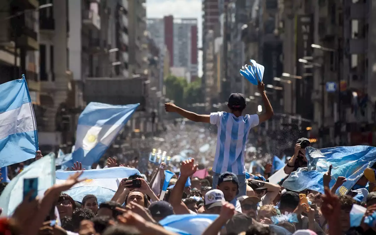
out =
[(184, 106), (184, 88), (186, 88), (187, 81), (183, 77), (168, 76), (165, 78), (166, 97), (174, 100), (178, 106)]

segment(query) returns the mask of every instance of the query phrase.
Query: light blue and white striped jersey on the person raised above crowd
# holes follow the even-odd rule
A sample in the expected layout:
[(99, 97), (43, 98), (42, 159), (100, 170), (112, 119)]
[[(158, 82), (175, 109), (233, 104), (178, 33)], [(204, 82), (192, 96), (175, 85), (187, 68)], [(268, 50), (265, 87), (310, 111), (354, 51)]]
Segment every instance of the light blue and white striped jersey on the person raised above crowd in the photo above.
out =
[(218, 127), (213, 171), (217, 174), (226, 171), (245, 174), (244, 150), (249, 130), (259, 124), (258, 115), (235, 117), (227, 112), (213, 112), (210, 123)]

